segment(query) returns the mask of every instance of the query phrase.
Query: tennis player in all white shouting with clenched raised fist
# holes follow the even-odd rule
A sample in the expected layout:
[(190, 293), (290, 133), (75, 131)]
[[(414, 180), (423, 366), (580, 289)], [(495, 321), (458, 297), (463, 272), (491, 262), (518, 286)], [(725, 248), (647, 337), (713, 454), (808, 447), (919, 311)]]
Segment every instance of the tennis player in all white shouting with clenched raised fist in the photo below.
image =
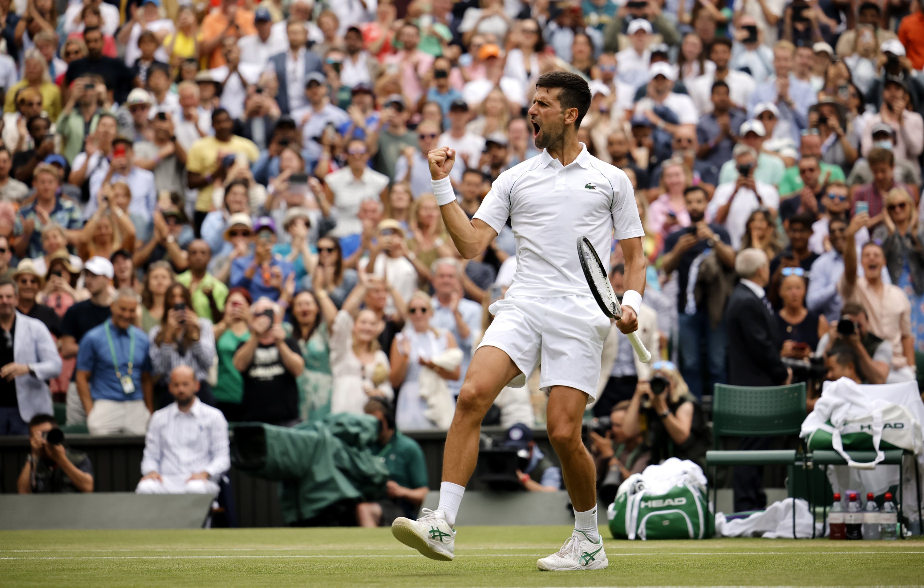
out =
[(549, 395), (546, 427), (575, 510), (575, 530), (561, 550), (537, 565), (601, 570), (608, 561), (597, 530), (596, 473), (580, 433), (584, 409), (596, 395), (610, 319), (590, 294), (575, 244), (578, 236), (587, 236), (609, 266), (612, 237), (620, 240), (626, 293), (616, 325), (629, 333), (638, 327), (645, 287), (644, 231), (626, 174), (591, 156), (577, 140), (590, 107), (587, 82), (551, 72), (536, 87), (529, 121), (542, 152), (501, 174), (471, 221), (449, 181), (456, 151), (441, 147), (429, 155), (433, 193), (462, 256), (483, 251), (509, 218), (517, 237), (517, 272), (505, 298), (490, 308), (494, 320), (459, 392), (446, 436), (439, 507), (424, 509), (417, 521), (395, 519), (392, 533), (428, 558), (455, 557), (453, 525), (478, 460), (481, 419), (508, 382), (541, 366), (540, 387)]

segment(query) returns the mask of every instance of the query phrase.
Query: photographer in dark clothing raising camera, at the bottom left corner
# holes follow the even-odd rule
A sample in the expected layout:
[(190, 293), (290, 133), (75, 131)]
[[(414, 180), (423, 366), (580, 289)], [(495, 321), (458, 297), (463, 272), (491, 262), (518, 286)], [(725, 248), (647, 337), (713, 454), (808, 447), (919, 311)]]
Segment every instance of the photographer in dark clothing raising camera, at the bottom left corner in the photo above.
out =
[(19, 494), (93, 491), (93, 466), (86, 453), (64, 446), (55, 417), (36, 414), (29, 421), (31, 452), (19, 474)]

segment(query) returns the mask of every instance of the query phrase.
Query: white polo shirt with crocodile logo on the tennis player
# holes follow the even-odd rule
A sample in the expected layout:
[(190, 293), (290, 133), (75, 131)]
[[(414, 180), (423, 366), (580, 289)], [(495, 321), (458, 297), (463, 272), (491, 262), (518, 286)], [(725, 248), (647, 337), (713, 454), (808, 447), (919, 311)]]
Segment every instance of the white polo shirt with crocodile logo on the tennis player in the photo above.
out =
[(590, 239), (609, 270), (613, 237), (645, 234), (626, 174), (590, 155), (584, 144), (567, 166), (542, 150), (501, 174), (475, 218), (498, 233), (507, 218), (512, 222), (517, 271), (508, 297), (590, 296), (577, 237)]

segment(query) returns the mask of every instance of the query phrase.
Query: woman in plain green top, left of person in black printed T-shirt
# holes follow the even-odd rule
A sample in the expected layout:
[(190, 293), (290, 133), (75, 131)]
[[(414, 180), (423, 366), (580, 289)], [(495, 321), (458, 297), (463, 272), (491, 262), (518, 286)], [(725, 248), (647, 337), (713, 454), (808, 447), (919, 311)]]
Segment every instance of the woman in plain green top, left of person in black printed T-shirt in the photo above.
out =
[(234, 366), (234, 354), (250, 338), (250, 304), (252, 298), (244, 288), (235, 288), (225, 300), (225, 317), (213, 326), (215, 353), (218, 355), (218, 379), (212, 389), (215, 407), (229, 423), (241, 420), (244, 378)]

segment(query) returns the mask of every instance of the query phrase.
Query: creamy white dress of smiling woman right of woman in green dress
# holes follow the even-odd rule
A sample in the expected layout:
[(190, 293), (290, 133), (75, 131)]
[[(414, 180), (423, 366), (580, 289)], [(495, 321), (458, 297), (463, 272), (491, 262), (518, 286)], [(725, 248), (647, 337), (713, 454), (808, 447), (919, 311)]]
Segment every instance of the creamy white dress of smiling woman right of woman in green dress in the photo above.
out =
[[(353, 317), (346, 310), (339, 311), (334, 318), (330, 346), (331, 374), (334, 376), (331, 414), (363, 414), (370, 398), (365, 389), (367, 385), (389, 400), (395, 397), (388, 379), (391, 373), (388, 355), (380, 349), (375, 352), (372, 363), (364, 366), (353, 353)], [(378, 381), (378, 386), (373, 385), (373, 381)]]

